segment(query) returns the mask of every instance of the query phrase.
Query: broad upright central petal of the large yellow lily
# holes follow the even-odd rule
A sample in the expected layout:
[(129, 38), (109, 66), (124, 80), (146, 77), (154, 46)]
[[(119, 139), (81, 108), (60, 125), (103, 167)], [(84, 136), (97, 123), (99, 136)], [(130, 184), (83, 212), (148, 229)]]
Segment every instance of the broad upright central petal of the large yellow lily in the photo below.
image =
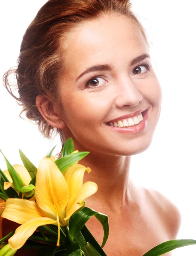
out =
[(35, 198), (38, 206), (56, 218), (62, 214), (69, 200), (69, 189), (53, 159), (43, 158), (37, 169)]

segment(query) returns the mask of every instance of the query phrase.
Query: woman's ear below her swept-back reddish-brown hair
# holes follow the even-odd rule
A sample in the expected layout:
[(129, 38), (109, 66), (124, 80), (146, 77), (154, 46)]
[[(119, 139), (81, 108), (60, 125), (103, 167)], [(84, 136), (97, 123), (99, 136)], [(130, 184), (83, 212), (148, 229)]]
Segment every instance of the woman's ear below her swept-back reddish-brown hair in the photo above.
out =
[(66, 123), (61, 119), (60, 112), (58, 113), (56, 109), (54, 110), (54, 104), (49, 99), (44, 98), (42, 94), (36, 97), (35, 104), (49, 125), (59, 129), (66, 126)]

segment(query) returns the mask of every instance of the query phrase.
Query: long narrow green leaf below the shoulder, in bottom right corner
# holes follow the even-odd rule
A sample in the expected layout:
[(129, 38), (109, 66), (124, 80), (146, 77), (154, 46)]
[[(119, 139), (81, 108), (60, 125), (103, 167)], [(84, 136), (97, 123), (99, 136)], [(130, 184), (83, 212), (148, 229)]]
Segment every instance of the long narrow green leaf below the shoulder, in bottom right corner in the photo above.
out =
[(196, 240), (191, 240), (191, 239), (170, 240), (157, 245), (156, 247), (154, 247), (153, 249), (145, 253), (143, 256), (159, 256), (159, 255), (168, 253), (171, 250), (174, 250), (176, 248), (180, 248), (180, 247), (184, 247), (192, 244), (196, 244)]

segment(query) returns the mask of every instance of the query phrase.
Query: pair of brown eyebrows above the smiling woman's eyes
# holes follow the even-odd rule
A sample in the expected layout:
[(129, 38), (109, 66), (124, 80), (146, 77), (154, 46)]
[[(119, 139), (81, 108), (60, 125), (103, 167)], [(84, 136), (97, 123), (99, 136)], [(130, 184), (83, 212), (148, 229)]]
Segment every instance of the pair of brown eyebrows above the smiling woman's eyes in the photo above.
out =
[[(129, 66), (133, 66), (134, 64), (138, 63), (139, 61), (143, 61), (145, 58), (150, 58), (149, 54), (142, 54), (136, 58), (134, 58), (133, 60), (130, 61)], [(108, 64), (99, 64), (99, 65), (95, 65), (92, 67), (87, 68), (87, 70), (85, 70), (83, 73), (80, 74), (80, 76), (78, 76), (78, 78), (76, 79), (76, 81), (78, 79), (81, 78), (81, 76), (84, 76), (84, 74), (92, 72), (92, 71), (108, 71), (108, 70), (112, 70), (112, 67)]]

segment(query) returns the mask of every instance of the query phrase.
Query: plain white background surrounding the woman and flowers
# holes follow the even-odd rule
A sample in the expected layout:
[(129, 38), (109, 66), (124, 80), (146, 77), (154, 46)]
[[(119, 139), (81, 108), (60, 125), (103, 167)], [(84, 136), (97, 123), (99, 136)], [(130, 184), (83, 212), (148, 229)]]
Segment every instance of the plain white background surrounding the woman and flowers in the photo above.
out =
[[(22, 36), (46, 0), (0, 2), (0, 77), (16, 65)], [(147, 29), (151, 56), (161, 83), (159, 124), (147, 151), (134, 155), (130, 175), (135, 183), (159, 190), (182, 213), (177, 239), (196, 239), (196, 37), (194, 0), (133, 0), (133, 11)], [(21, 107), (0, 80), (0, 149), (11, 164), (22, 164), (18, 148), (37, 166), (60, 140), (43, 139), (37, 126), (19, 118)], [(6, 169), (2, 155), (0, 168)], [(173, 256), (195, 256), (196, 245), (173, 250)]]

